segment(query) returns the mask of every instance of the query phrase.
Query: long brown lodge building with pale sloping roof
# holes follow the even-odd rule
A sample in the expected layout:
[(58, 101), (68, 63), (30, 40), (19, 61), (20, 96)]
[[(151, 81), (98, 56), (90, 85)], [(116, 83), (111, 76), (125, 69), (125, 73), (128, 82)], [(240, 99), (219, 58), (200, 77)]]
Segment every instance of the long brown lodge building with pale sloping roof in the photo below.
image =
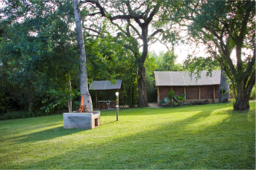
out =
[(210, 103), (219, 102), (219, 84), (221, 71), (213, 71), (212, 76), (206, 76), (207, 71), (202, 71), (201, 78), (190, 77), (188, 72), (181, 71), (154, 71), (155, 85), (157, 86), (157, 104), (169, 91), (181, 97), (186, 94), (185, 101), (203, 101), (208, 99)]

